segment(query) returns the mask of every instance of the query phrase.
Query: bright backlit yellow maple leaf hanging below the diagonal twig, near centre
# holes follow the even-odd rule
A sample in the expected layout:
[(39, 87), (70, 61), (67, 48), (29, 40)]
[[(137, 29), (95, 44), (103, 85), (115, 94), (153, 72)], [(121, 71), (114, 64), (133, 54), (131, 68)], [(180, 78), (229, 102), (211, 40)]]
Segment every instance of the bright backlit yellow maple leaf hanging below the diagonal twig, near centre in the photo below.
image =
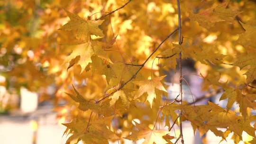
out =
[(151, 80), (144, 80), (144, 81), (134, 81), (133, 83), (139, 85), (139, 89), (137, 90), (137, 93), (135, 94), (135, 99), (143, 95), (145, 92), (147, 93), (147, 101), (150, 103), (150, 106), (152, 108), (153, 100), (156, 98), (155, 94), (155, 88), (158, 90), (165, 90), (165, 87), (161, 83), (161, 80), (163, 80), (165, 76), (161, 77), (155, 77)]

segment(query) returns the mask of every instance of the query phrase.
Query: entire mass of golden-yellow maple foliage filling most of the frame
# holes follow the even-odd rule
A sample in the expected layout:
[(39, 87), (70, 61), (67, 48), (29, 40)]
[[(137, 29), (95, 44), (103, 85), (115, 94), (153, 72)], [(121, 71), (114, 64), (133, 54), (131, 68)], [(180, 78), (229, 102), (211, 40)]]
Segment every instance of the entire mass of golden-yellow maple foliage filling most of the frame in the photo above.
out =
[(66, 109), (67, 144), (186, 143), (183, 121), (256, 144), (255, 36), (255, 0), (4, 0), (0, 85)]

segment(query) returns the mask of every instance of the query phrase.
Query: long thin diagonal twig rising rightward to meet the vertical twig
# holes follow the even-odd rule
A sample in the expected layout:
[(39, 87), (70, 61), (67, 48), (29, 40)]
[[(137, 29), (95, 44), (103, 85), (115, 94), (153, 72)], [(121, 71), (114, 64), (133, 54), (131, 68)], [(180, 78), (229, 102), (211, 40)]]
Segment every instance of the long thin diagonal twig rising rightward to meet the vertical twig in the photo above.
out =
[(99, 102), (101, 102), (101, 101), (104, 100), (104, 99), (107, 99), (108, 97), (110, 97), (110, 96), (111, 96), (113, 93), (115, 93), (116, 91), (121, 90), (128, 82), (130, 82), (132, 79), (134, 79), (134, 78), (137, 76), (138, 72), (144, 67), (144, 65), (146, 64), (146, 62), (150, 59), (150, 57), (151, 57), (153, 54), (155, 54), (155, 52), (161, 47), (161, 45), (163, 45), (163, 44), (165, 43), (165, 41), (166, 41), (169, 37), (171, 37), (177, 30), (179, 30), (179, 28), (176, 28), (173, 32), (171, 32), (171, 33), (155, 48), (155, 50), (147, 57), (147, 59), (145, 60), (145, 62), (141, 64), (141, 66), (139, 67), (139, 69), (137, 70), (137, 72), (135, 72), (135, 73), (133, 74), (133, 76), (131, 76), (131, 78), (130, 78), (128, 81), (126, 81), (125, 83), (123, 83), (117, 90), (114, 90), (114, 91), (111, 92), (108, 96), (106, 96), (106, 97), (104, 97), (104, 98), (98, 100), (98, 101), (96, 102), (96, 104), (99, 103)]

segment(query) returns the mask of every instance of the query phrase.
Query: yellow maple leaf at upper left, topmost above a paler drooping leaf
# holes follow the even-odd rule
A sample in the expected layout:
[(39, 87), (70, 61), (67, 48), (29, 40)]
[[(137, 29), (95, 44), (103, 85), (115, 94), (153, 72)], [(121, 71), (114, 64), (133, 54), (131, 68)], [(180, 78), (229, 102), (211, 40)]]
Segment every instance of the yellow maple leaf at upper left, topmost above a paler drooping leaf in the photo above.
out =
[(89, 42), (91, 35), (104, 36), (99, 26), (104, 20), (84, 20), (78, 15), (65, 10), (70, 21), (59, 30), (72, 31), (76, 39), (81, 42)]

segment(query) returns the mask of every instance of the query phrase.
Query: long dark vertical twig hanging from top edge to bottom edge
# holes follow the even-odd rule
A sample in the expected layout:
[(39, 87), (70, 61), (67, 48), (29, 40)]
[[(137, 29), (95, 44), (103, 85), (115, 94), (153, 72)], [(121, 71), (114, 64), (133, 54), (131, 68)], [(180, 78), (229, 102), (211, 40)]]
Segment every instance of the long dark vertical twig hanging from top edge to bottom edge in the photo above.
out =
[[(182, 38), (180, 0), (177, 0), (177, 7), (178, 7), (178, 24), (179, 24), (179, 45), (182, 45), (183, 38)], [(182, 51), (179, 54), (179, 68), (180, 68), (180, 95), (181, 95), (180, 104), (182, 105), (182, 81), (183, 81), (183, 77), (182, 77)], [(182, 117), (182, 110), (180, 110), (179, 116), (180, 116), (180, 118)], [(180, 136), (179, 136), (179, 138), (181, 138), (181, 143), (184, 144), (183, 131), (182, 131), (182, 121), (180, 121)], [(176, 142), (179, 140), (179, 138), (176, 140)], [(176, 144), (176, 142), (174, 144)]]

